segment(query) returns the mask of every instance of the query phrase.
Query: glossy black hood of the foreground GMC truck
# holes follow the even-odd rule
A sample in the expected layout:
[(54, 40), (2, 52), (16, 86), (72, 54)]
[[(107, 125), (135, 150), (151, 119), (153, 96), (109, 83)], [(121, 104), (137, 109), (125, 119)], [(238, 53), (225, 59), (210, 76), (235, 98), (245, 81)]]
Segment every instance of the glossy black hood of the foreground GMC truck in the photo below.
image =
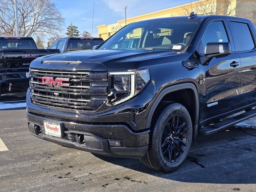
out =
[[(177, 55), (172, 50), (85, 50), (44, 56), (34, 60), (30, 67), (76, 70), (129, 70), (139, 62), (153, 58)], [(54, 62), (58, 61), (58, 62)], [(63, 61), (63, 62), (61, 62)]]

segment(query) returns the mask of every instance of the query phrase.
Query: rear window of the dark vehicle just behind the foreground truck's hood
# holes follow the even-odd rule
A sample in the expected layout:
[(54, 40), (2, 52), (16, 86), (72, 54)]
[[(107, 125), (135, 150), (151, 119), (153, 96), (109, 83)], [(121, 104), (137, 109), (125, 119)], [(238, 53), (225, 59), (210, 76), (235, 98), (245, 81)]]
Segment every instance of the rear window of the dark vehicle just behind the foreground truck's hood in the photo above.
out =
[(80, 40), (80, 39), (70, 39), (68, 41), (67, 50), (77, 51), (77, 50), (87, 50), (91, 49), (91, 40)]

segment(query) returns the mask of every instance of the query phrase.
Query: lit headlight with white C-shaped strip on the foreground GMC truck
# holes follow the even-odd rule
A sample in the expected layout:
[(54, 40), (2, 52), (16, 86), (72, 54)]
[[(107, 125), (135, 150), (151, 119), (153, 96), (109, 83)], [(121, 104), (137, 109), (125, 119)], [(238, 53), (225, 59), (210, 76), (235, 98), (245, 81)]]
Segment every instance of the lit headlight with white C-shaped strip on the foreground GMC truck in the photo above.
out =
[(127, 72), (110, 72), (111, 95), (113, 105), (125, 102), (138, 94), (149, 82), (148, 69)]

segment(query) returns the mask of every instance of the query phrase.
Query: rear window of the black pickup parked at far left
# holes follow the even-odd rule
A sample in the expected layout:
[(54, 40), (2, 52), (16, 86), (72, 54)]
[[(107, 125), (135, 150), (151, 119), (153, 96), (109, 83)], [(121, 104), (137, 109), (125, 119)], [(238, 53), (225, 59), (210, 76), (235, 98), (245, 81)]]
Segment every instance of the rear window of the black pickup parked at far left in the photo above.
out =
[(0, 49), (37, 49), (32, 39), (1, 39)]

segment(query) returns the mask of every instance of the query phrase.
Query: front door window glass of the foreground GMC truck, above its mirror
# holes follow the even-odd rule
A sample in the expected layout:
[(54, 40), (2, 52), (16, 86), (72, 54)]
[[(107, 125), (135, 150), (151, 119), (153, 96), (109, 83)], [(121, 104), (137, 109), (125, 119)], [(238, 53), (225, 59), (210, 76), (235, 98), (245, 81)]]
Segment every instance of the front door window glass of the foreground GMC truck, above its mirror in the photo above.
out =
[(201, 54), (204, 54), (205, 46), (210, 42), (228, 42), (228, 36), (221, 21), (212, 22), (207, 26), (200, 43)]

